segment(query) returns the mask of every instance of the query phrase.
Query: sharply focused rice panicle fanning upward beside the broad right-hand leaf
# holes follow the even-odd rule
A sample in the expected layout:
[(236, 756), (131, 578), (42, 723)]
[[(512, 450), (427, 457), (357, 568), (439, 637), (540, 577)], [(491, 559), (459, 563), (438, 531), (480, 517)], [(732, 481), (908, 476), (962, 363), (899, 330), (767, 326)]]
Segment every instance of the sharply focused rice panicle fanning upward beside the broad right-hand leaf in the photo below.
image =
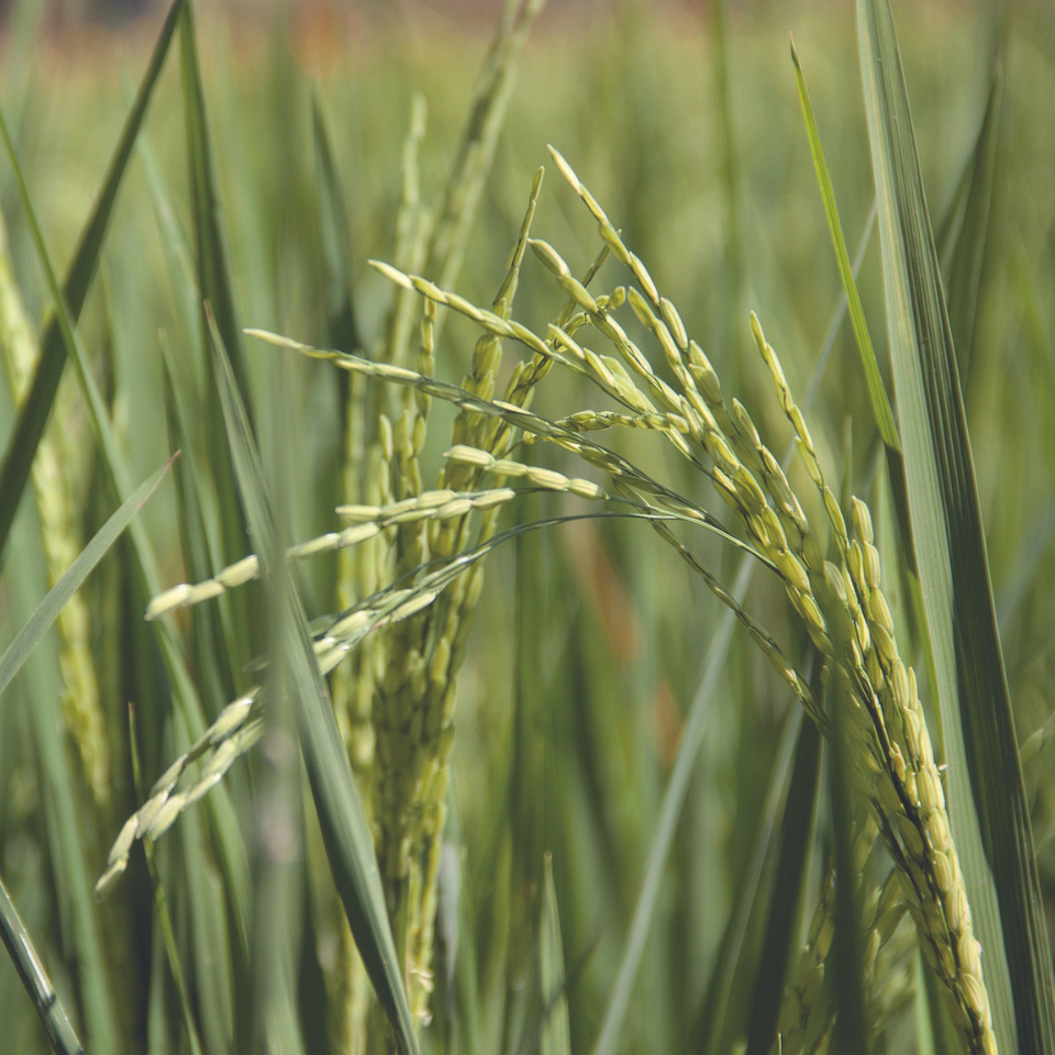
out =
[[(839, 563), (825, 560), (801, 503), (745, 408), (737, 401), (726, 404), (713, 367), (689, 341), (674, 306), (659, 295), (642, 262), (623, 245), (614, 226), (567, 163), (559, 155), (555, 157), (598, 220), (601, 235), (613, 255), (632, 270), (645, 289), (644, 297), (631, 289), (628, 299), (638, 320), (655, 334), (664, 349), (668, 365), (682, 386), (681, 396), (674, 396), (663, 382), (652, 379), (654, 375), (647, 359), (625, 338), (625, 331), (599, 310), (596, 300), (570, 280), (567, 265), (552, 247), (533, 243), (536, 254), (565, 292), (576, 300), (589, 324), (609, 338), (623, 362), (646, 382), (649, 392), (662, 404), (677, 407), (688, 425), (688, 435), (710, 457), (709, 475), (715, 490), (743, 525), (752, 546), (784, 580), (789, 601), (825, 657), (828, 684), (836, 680), (836, 668), (845, 673), (849, 686), (845, 706), (852, 719), (847, 724), (862, 784), (902, 876), (909, 911), (920, 929), (928, 957), (945, 985), (957, 1029), (969, 1050), (991, 1052), (995, 1041), (978, 943), (971, 931), (963, 877), (952, 846), (944, 795), (915, 693), (914, 675), (898, 656), (889, 606), (880, 589), (878, 551), (871, 537), (867, 507), (859, 500), (854, 502), (857, 537), (852, 540), (834, 493), (824, 480), (812, 436), (779, 360), (753, 318), (755, 337), (773, 376), (781, 409), (796, 431), (800, 457), (825, 509)], [(617, 374), (600, 356), (590, 358), (585, 352), (576, 351), (581, 349), (578, 341), (563, 338), (553, 327), (543, 341), (526, 327), (476, 308), (434, 284), (390, 268), (382, 270), (393, 281), (417, 289), (427, 300), (454, 307), (488, 333), (511, 337), (535, 355), (548, 355), (555, 362), (587, 373), (614, 398), (634, 407), (635, 397), (630, 389), (636, 386), (630, 375), (625, 370)], [(556, 354), (554, 345), (559, 345)], [(634, 409), (641, 410), (640, 404)], [(533, 431), (540, 434), (540, 430)], [(556, 426), (548, 423), (549, 437), (555, 438), (555, 432)], [(684, 454), (696, 459), (681, 431), (670, 430), (664, 434)], [(567, 430), (558, 442), (569, 449), (576, 447), (569, 442)], [(585, 452), (586, 447), (580, 447), (578, 453), (586, 456)], [(626, 478), (615, 477), (613, 482), (620, 493), (633, 487)], [(654, 528), (685, 555), (684, 547), (666, 525), (655, 523)], [(698, 560), (689, 563), (703, 573)], [(715, 592), (723, 597), (720, 587)], [(759, 643), (765, 641), (760, 634), (753, 636)], [(769, 649), (767, 654), (773, 655)], [(803, 697), (800, 695), (800, 698)], [(815, 708), (811, 708), (811, 713), (819, 717)]]

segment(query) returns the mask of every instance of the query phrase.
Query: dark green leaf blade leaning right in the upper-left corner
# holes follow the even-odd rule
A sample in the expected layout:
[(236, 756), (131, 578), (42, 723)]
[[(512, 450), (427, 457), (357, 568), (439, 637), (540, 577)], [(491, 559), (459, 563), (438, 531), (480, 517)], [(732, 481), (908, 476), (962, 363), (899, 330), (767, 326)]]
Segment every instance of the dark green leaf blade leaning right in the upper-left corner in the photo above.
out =
[[(176, 31), (184, 3), (185, 0), (174, 0), (165, 19), (146, 73), (140, 84), (135, 103), (125, 120), (121, 138), (110, 160), (110, 167), (107, 170), (107, 177), (103, 180), (96, 207), (85, 225), (77, 249), (74, 253), (74, 259), (63, 287), (63, 295), (69, 306), (70, 314), (75, 319), (80, 314), (85, 298), (88, 296), (88, 287), (91, 285), (92, 276), (99, 263), (107, 226), (110, 223), (118, 191), (124, 179), (129, 157), (140, 133), (165, 56), (168, 54), (168, 47)], [(2, 123), (2, 114), (0, 114), (0, 123)], [(3, 137), (13, 160), (13, 148), (5, 125)], [(21, 176), (19, 180), (21, 182)], [(3, 465), (0, 468), (0, 495), (4, 496), (3, 501), (0, 502), (0, 554), (3, 553), (7, 545), (15, 511), (25, 489), (25, 481), (29, 479), (30, 466), (33, 464), (37, 445), (44, 434), (44, 427), (55, 401), (55, 392), (58, 390), (58, 382), (66, 365), (66, 355), (67, 345), (56, 314), (41, 341), (41, 357), (33, 375), (32, 387), (19, 411), (14, 434), (8, 443), (3, 455)]]

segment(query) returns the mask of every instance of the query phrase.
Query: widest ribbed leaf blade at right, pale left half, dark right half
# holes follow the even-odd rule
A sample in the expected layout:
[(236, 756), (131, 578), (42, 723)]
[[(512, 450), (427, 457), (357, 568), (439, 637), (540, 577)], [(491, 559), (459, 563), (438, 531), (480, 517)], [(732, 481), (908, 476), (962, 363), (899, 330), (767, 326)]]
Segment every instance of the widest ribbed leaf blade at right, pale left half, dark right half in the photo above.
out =
[(889, 8), (858, 36), (906, 476), (953, 835), (1001, 1051), (1055, 1052), (1055, 984), (948, 313)]

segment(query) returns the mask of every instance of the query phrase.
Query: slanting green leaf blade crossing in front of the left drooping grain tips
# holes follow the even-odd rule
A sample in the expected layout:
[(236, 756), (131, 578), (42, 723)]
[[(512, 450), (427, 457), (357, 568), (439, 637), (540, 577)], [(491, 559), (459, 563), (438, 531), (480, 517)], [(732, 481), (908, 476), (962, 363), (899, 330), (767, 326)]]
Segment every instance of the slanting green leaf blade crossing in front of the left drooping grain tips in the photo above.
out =
[[(263, 468), (238, 397), (234, 373), (219, 332), (213, 327), (216, 385), (231, 442), (240, 493), (245, 504), (254, 547), (265, 559), (276, 552), (274, 521), (268, 506)], [(385, 1008), (402, 1055), (417, 1055), (407, 992), (392, 942), (385, 895), (369, 823), (363, 809), (348, 757), (337, 730), (333, 704), (319, 671), (300, 603), (285, 577), (285, 565), (269, 569), (271, 580), (287, 592), (290, 619), (284, 620), (290, 640), (287, 658), (295, 687), (301, 752), (319, 815), (334, 882), (344, 904), (352, 934), (378, 999)]]

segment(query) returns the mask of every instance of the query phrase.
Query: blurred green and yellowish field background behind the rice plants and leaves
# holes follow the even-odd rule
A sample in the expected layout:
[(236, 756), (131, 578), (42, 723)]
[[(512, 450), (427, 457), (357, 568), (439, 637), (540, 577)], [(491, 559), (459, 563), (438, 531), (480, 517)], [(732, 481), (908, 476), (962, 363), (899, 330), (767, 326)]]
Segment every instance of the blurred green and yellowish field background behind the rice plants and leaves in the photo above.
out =
[[(132, 0), (0, 4), (0, 102), (15, 138), (53, 259), (63, 263), (88, 214), (163, 12)], [(135, 20), (126, 16), (136, 14)], [(1052, 717), (1055, 682), (1055, 7), (1046, 2), (898, 4), (897, 16), (929, 203), (939, 240), (957, 230), (957, 189), (981, 124), (992, 77), (1001, 77), (999, 132), (988, 215), (968, 216), (980, 252), (974, 277), (949, 281), (968, 421), (979, 474), (989, 556), (1020, 740)], [(206, 100), (235, 299), (245, 325), (327, 342), (326, 260), (318, 208), (311, 101), (321, 100), (349, 210), (349, 247), (359, 329), (378, 340), (391, 290), (366, 264), (390, 259), (400, 152), (412, 99), (427, 106), (422, 193), (443, 186), (476, 70), (498, 19), (492, 4), (310, 5), (232, 3), (199, 12)], [(763, 431), (784, 436), (769, 381), (747, 326), (755, 310), (779, 349), (792, 388), (809, 389), (839, 304), (840, 281), (796, 95), (788, 33), (810, 81), (843, 222), (853, 252), (867, 230), (871, 175), (852, 5), (741, 2), (654, 5), (553, 0), (526, 45), (509, 115), (473, 226), (457, 289), (474, 303), (493, 296), (546, 144), (575, 166), (624, 241), (648, 265), (723, 378)], [(999, 62), (998, 62), (999, 56)], [(149, 154), (133, 163), (108, 236), (80, 332), (112, 409), (136, 480), (170, 453), (159, 343), (179, 349), (187, 331), (180, 282), (163, 224), (192, 245), (182, 103), (175, 64), (149, 112)], [(154, 181), (152, 191), (151, 182)], [(163, 188), (163, 197), (157, 188)], [(159, 216), (158, 201), (170, 203)], [(0, 165), (0, 209), (11, 259), (34, 323), (48, 298), (10, 167)], [(160, 221), (160, 223), (159, 223)], [(557, 245), (574, 270), (596, 254), (589, 218), (556, 174), (543, 188), (533, 233)], [(948, 258), (946, 280), (954, 262)], [(882, 347), (878, 240), (865, 251), (859, 286)], [(533, 274), (534, 273), (534, 274)], [(515, 318), (544, 326), (559, 308), (535, 262), (525, 265)], [(957, 299), (959, 298), (959, 299)], [(437, 374), (459, 381), (473, 330), (448, 319)], [(251, 376), (260, 384), (253, 349)], [(884, 356), (880, 354), (880, 362)], [(290, 400), (296, 475), (289, 504), (296, 537), (334, 524), (338, 415), (335, 371), (295, 363)], [(854, 487), (875, 471), (877, 448), (852, 335), (839, 330), (810, 421), (830, 465)], [(536, 407), (549, 417), (588, 404), (565, 377)], [(74, 437), (73, 506), (87, 538), (109, 514), (88, 424), (73, 379), (64, 380), (51, 427)], [(10, 396), (0, 432), (11, 427)], [(425, 479), (434, 478), (453, 412), (433, 411)], [(258, 431), (266, 432), (262, 419)], [(79, 443), (77, 441), (80, 441)], [(658, 448), (621, 438), (640, 464)], [(774, 444), (778, 448), (778, 444)], [(848, 459), (848, 460), (847, 460)], [(565, 466), (566, 468), (566, 466)], [(704, 497), (682, 465), (678, 486)], [(181, 581), (175, 489), (143, 512), (166, 585)], [(0, 499), (2, 500), (2, 499)], [(540, 501), (536, 513), (551, 510)], [(734, 554), (702, 543), (730, 578)], [(21, 622), (9, 580), (0, 607)], [(31, 562), (32, 563), (32, 562)], [(111, 803), (84, 807), (91, 874), (121, 820), (134, 809), (127, 702), (146, 715), (141, 736), (147, 782), (175, 754), (157, 701), (164, 677), (132, 610), (127, 554), (89, 581), (100, 697), (113, 748)], [(330, 610), (332, 565), (302, 578), (309, 617)], [(40, 569), (37, 569), (38, 574)], [(579, 524), (500, 549), (459, 680), (453, 779), (451, 868), (460, 876), (458, 957), (471, 953), (478, 992), (469, 999), (437, 965), (437, 1036), (475, 1008), (464, 1050), (531, 1044), (535, 1011), (517, 1008), (538, 940), (537, 884), (518, 886), (514, 847), (553, 855), (556, 901), (569, 974), (573, 1048), (592, 1043), (612, 985), (648, 853), (654, 818), (681, 724), (719, 618), (704, 589), (647, 529), (614, 521)], [(786, 640), (784, 601), (759, 581), (748, 607)], [(24, 613), (23, 613), (24, 615)], [(54, 647), (54, 646), (53, 646)], [(23, 679), (24, 681), (25, 679)], [(40, 686), (15, 682), (16, 699)], [(22, 693), (21, 697), (18, 693)], [(5, 699), (5, 704), (11, 704)], [(226, 702), (206, 699), (212, 717)], [(784, 717), (793, 701), (749, 642), (736, 640), (709, 719), (659, 911), (633, 993), (624, 1051), (686, 1048), (730, 907), (747, 866)], [(34, 757), (22, 707), (0, 711), (0, 873), (47, 951), (48, 967), (74, 1009), (78, 967), (56, 892)], [(151, 717), (151, 715), (154, 717)], [(1026, 764), (1042, 884), (1055, 913), (1055, 771), (1048, 736)], [(252, 766), (248, 767), (252, 771)], [(245, 815), (251, 777), (235, 770)], [(170, 836), (173, 843), (177, 842)], [(186, 846), (192, 845), (188, 837)], [(164, 843), (159, 852), (169, 851)], [(185, 851), (186, 852), (186, 851)], [(218, 881), (210, 874), (209, 881)], [(448, 875), (448, 882), (453, 882)], [(152, 939), (142, 868), (102, 911), (113, 960), (111, 986), (125, 1036), (167, 1050), (149, 1015), (171, 1004), (151, 993), (164, 975)], [(169, 891), (174, 900), (177, 891)], [(118, 902), (114, 904), (113, 902)], [(186, 915), (178, 931), (189, 942)], [(755, 921), (757, 929), (760, 921)], [(306, 923), (326, 965), (325, 920)], [(181, 946), (182, 947), (182, 946)], [(121, 949), (118, 952), (118, 949)], [(451, 948), (441, 956), (453, 955)], [(200, 998), (198, 998), (200, 999)], [(735, 998), (734, 999), (738, 999)], [(147, 1009), (151, 1009), (149, 1011)], [(166, 1012), (171, 1022), (171, 1007)], [(519, 1014), (519, 1018), (518, 1018)], [(0, 963), (0, 1051), (40, 1051), (24, 995)], [(10, 1025), (9, 1025), (10, 1024)], [(463, 1026), (464, 1028), (464, 1026)], [(426, 1031), (425, 1036), (433, 1031)], [(501, 1042), (501, 1044), (499, 1043)], [(182, 1042), (174, 1041), (173, 1051)], [(310, 1043), (309, 1043), (309, 1046)], [(130, 1048), (131, 1050), (131, 1048)], [(442, 1050), (442, 1048), (441, 1048)], [(455, 1050), (455, 1048), (451, 1048)]]

